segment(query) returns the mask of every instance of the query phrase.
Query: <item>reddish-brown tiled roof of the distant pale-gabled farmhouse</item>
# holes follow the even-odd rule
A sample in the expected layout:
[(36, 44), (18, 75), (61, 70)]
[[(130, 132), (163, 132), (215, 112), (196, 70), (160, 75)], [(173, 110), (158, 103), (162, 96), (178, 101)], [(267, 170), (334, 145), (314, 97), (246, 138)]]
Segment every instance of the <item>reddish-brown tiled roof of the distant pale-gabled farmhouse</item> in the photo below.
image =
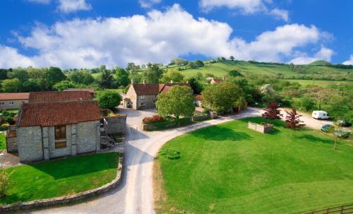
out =
[(174, 85), (186, 85), (188, 83), (160, 83), (160, 84), (133, 84), (136, 95), (157, 95), (159, 93), (167, 93)]

